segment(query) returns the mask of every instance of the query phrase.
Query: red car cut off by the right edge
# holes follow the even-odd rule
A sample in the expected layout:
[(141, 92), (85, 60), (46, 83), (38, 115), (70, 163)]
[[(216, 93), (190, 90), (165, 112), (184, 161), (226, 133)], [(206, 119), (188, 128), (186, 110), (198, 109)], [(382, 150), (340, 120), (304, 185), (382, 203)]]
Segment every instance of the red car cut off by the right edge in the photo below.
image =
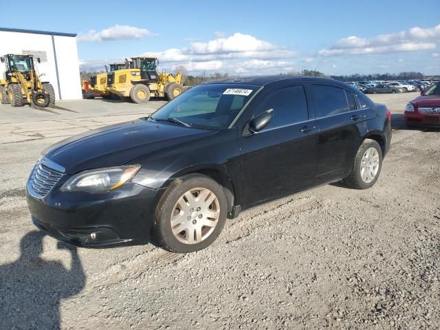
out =
[(408, 104), (405, 109), (407, 126), (440, 127), (440, 83), (432, 85)]

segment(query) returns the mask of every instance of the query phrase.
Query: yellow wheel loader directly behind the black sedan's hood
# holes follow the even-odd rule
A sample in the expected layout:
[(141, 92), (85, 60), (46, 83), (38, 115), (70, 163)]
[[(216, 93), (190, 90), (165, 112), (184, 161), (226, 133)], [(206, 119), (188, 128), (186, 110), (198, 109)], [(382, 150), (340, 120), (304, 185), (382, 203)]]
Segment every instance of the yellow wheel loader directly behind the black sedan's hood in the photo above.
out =
[[(128, 63), (128, 61), (126, 61)], [(130, 98), (135, 103), (145, 103), (151, 97), (173, 100), (184, 92), (181, 73), (175, 76), (157, 72), (159, 61), (155, 57), (133, 57), (129, 69), (109, 73), (107, 87), (111, 94)]]

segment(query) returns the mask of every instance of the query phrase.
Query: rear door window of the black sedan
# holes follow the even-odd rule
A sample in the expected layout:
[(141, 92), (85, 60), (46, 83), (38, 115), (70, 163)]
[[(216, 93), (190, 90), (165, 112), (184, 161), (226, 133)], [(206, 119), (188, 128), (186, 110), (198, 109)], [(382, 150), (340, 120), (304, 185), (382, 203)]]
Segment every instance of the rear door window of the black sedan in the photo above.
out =
[(336, 115), (349, 111), (344, 89), (338, 87), (313, 85), (316, 117)]

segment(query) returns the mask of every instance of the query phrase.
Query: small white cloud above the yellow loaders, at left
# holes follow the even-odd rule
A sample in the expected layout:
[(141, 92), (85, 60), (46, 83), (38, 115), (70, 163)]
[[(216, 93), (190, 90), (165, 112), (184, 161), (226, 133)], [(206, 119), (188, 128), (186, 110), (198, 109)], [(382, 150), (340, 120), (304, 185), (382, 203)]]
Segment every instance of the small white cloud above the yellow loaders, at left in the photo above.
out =
[(142, 39), (144, 36), (156, 36), (146, 29), (135, 28), (129, 25), (113, 25), (101, 31), (90, 30), (78, 33), (78, 41), (113, 41), (118, 39)]

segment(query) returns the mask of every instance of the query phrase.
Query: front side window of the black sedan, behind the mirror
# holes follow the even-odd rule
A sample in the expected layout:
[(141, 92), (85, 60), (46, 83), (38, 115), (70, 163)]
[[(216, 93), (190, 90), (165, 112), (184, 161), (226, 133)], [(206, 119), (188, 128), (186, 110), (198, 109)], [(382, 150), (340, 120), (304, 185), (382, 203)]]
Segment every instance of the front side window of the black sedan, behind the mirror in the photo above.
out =
[(261, 103), (256, 115), (269, 109), (274, 109), (274, 117), (262, 131), (309, 119), (303, 86), (285, 87), (274, 91)]

